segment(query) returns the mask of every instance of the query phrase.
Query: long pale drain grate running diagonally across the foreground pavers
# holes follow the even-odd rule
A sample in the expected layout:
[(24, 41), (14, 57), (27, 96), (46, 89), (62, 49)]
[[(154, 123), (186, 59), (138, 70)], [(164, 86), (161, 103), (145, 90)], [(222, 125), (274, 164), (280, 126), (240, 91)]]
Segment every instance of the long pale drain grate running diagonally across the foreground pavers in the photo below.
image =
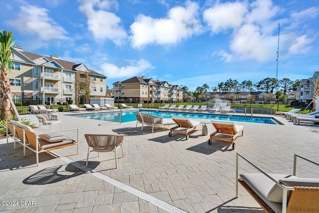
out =
[(128, 186), (126, 184), (123, 184), (122, 182), (119, 182), (113, 178), (110, 178), (109, 176), (103, 175), (99, 172), (96, 172), (95, 170), (88, 169), (85, 166), (83, 166), (83, 165), (81, 165), (81, 164), (79, 164), (79, 163), (77, 163), (77, 162), (75, 162), (67, 157), (64, 157), (64, 156), (62, 156), (54, 151), (49, 151), (49, 152), (51, 152), (55, 156), (59, 157), (61, 160), (65, 161), (69, 164), (72, 164), (73, 166), (83, 170), (84, 172), (91, 173), (91, 175), (93, 175), (93, 176), (95, 176), (103, 181), (106, 181), (106, 182), (108, 182), (108, 183), (110, 183), (110, 184), (112, 184), (112, 185), (114, 185), (122, 190), (125, 190), (125, 191), (131, 193), (132, 195), (135, 195), (135, 196), (137, 196), (137, 197), (139, 197), (139, 198), (141, 198), (141, 199), (143, 199), (143, 200), (145, 200), (145, 201), (147, 201), (147, 202), (149, 202), (149, 203), (151, 203), (151, 204), (153, 204), (153, 205), (155, 205), (155, 206), (157, 206), (157, 207), (159, 207), (167, 212), (187, 213), (181, 209), (178, 209), (177, 207), (174, 207), (170, 204), (167, 204), (167, 203), (161, 201), (160, 199), (157, 199), (157, 198), (150, 196), (150, 195), (148, 195), (140, 190), (137, 190), (131, 186)]

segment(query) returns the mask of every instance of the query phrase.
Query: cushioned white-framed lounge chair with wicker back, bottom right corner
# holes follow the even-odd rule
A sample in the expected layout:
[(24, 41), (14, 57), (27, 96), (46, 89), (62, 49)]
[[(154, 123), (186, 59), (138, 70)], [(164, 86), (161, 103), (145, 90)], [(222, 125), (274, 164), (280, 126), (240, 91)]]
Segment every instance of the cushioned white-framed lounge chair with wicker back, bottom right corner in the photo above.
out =
[[(238, 171), (242, 170), (238, 166), (239, 157), (245, 164), (248, 163), (255, 170), (257, 169), (259, 173), (244, 173), (238, 177)], [(318, 213), (319, 179), (296, 177), (297, 158), (319, 166), (318, 163), (294, 155), (293, 174), (269, 174), (237, 153), (236, 198), (238, 198), (238, 183), (240, 183), (267, 213)]]

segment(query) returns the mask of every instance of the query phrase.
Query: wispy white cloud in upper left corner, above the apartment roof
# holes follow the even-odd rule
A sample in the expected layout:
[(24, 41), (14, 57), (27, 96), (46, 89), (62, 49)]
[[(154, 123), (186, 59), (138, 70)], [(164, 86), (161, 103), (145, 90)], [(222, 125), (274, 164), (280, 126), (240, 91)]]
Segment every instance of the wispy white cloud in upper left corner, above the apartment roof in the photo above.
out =
[(34, 36), (33, 40), (43, 41), (67, 39), (67, 32), (48, 16), (49, 10), (33, 5), (22, 5), (18, 15), (8, 23), (19, 32)]

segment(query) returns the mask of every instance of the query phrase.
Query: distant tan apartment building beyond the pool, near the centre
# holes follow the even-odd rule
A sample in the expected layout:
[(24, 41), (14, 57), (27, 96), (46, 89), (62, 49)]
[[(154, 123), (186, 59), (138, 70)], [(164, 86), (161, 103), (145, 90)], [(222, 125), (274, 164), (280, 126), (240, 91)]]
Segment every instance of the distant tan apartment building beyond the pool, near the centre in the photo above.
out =
[(113, 83), (115, 102), (167, 102), (182, 101), (183, 93), (178, 85), (171, 85), (167, 81), (154, 80), (153, 78), (132, 77), (124, 81)]

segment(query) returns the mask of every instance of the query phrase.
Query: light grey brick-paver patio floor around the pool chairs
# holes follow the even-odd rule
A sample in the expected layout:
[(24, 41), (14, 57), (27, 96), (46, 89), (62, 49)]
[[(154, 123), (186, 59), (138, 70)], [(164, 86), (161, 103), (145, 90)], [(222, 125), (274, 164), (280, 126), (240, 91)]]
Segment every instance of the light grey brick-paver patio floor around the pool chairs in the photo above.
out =
[[(241, 186), (235, 199), (236, 152), (269, 173), (292, 174), (294, 154), (319, 162), (319, 125), (295, 125), (279, 116), (284, 125), (236, 122), (244, 126), (244, 135), (232, 150), (227, 142), (208, 145), (209, 135), (201, 135), (201, 127), (185, 140), (175, 133), (168, 137), (167, 129), (153, 134), (148, 128), (141, 131), (136, 122), (67, 116), (75, 113), (57, 114), (64, 129), (79, 128), (79, 155), (76, 146), (54, 150), (66, 158), (42, 153), (37, 167), (35, 153), (26, 150), (23, 157), (21, 145), (13, 150), (12, 140), (8, 145), (0, 140), (0, 201), (15, 201), (1, 205), (0, 212), (262, 213)], [(35, 115), (22, 117), (35, 119)], [(208, 125), (208, 133), (212, 132), (213, 126)], [(84, 134), (115, 133), (125, 135), (118, 168), (113, 169), (114, 153), (97, 157), (94, 152), (89, 169), (85, 168)], [(239, 173), (254, 172), (244, 161), (239, 165)], [(318, 168), (302, 161), (297, 166), (297, 177), (319, 177)]]

